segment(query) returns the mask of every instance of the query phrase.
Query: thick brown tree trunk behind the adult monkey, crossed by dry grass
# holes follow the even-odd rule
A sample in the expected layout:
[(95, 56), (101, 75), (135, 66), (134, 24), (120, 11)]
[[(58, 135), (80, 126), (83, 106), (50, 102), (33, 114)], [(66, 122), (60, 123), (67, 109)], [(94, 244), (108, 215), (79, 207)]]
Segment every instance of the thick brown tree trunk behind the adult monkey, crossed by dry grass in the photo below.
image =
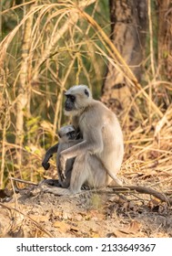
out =
[[(109, 0), (109, 5), (111, 40), (139, 81), (146, 42), (147, 0)], [(113, 102), (116, 111), (127, 109), (130, 102), (126, 79), (111, 64), (108, 65), (102, 99), (107, 104)]]

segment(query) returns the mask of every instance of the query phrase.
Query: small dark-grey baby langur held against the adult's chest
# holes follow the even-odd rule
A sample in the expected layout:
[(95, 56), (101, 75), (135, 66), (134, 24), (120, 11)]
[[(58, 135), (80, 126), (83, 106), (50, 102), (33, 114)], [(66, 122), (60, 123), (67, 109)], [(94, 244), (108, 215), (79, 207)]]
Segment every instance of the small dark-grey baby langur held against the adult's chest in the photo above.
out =
[(70, 158), (66, 161), (66, 170), (65, 173), (62, 174), (59, 169), (59, 155), (62, 151), (67, 148), (81, 142), (80, 134), (76, 131), (73, 125), (66, 125), (61, 127), (58, 131), (58, 144), (53, 145), (46, 151), (46, 155), (42, 162), (43, 167), (47, 170), (50, 166), (48, 163), (50, 157), (52, 157), (56, 153), (56, 168), (58, 174), (58, 180), (56, 179), (47, 179), (43, 181), (43, 183), (56, 186), (56, 187), (69, 187), (70, 185), (70, 177), (72, 172), (72, 167), (74, 165), (75, 158)]

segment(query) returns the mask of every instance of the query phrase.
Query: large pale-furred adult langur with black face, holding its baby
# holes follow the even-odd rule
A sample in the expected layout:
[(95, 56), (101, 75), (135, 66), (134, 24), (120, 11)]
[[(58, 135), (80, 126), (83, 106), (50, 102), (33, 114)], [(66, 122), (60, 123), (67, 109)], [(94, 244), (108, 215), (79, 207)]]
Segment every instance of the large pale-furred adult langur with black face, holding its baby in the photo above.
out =
[(106, 187), (112, 179), (117, 186), (122, 182), (116, 177), (124, 155), (123, 134), (116, 118), (101, 101), (92, 98), (86, 85), (73, 86), (65, 93), (65, 114), (72, 117), (72, 124), (79, 129), (83, 140), (59, 155), (60, 172), (66, 172), (66, 161), (75, 159), (70, 187), (47, 187), (56, 195), (80, 192), (82, 185)]

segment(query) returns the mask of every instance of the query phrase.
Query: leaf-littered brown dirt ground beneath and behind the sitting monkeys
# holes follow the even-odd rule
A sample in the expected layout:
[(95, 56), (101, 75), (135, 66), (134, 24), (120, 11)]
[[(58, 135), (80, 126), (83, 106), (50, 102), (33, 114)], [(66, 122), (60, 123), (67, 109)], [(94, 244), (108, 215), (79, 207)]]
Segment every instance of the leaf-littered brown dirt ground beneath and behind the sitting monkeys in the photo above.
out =
[[(126, 172), (126, 171), (125, 171)], [(125, 173), (125, 182), (153, 187), (171, 196), (166, 173)], [(122, 173), (123, 177), (123, 173)], [(163, 186), (166, 181), (166, 189)], [(1, 237), (172, 237), (172, 207), (149, 195), (83, 191), (73, 197), (15, 194), (0, 204)]]

